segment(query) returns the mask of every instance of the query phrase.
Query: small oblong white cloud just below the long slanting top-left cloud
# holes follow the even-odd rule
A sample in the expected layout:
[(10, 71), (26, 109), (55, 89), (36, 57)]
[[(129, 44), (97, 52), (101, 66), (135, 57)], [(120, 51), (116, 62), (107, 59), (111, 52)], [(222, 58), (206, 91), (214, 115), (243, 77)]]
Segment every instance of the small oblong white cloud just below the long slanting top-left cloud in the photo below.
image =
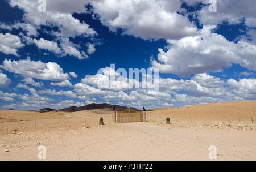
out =
[(44, 38), (40, 38), (39, 40), (34, 39), (34, 43), (39, 49), (45, 49), (48, 51), (52, 51), (53, 53), (59, 54), (60, 48), (56, 42), (44, 40)]

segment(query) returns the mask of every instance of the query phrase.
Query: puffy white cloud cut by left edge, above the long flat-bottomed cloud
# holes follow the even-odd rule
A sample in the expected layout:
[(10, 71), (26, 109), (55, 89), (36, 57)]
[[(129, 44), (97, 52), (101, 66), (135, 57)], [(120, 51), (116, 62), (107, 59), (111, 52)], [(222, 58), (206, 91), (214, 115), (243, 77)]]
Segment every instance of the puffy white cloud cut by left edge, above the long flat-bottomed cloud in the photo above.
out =
[(0, 51), (5, 54), (13, 54), (18, 56), (17, 51), (22, 48), (24, 44), (20, 41), (20, 38), (10, 33), (0, 33)]

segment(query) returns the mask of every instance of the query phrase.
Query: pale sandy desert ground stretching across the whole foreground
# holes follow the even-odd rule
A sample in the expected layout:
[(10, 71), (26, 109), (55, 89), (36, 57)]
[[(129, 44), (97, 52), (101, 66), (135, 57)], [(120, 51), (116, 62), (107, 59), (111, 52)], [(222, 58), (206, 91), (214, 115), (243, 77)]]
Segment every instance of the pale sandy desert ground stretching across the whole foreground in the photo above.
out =
[(0, 160), (39, 160), (40, 145), (46, 160), (209, 160), (210, 145), (217, 160), (256, 160), (256, 102), (155, 109), (144, 123), (113, 123), (109, 112), (0, 110)]

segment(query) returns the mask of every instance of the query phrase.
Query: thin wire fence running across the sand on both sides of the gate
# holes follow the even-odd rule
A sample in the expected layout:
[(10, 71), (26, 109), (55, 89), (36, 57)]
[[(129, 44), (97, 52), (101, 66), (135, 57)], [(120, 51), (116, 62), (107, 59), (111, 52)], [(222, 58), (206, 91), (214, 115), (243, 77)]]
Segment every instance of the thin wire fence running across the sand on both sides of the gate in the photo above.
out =
[[(112, 121), (112, 113), (108, 114), (95, 114), (90, 117), (67, 117), (61, 116), (57, 119), (40, 119), (34, 118), (30, 120), (19, 120), (15, 121), (15, 119), (9, 119), (5, 122), (0, 122), (0, 134), (13, 134), (25, 131), (54, 131), (54, 130), (70, 130), (70, 129), (78, 129), (78, 128), (92, 128), (99, 125), (99, 118), (102, 117), (104, 119), (105, 124), (113, 123)], [(171, 118), (172, 124), (180, 124), (185, 125), (189, 123), (197, 123), (197, 124), (237, 124), (237, 125), (253, 125), (255, 127), (256, 117), (255, 115), (251, 117), (242, 117), (240, 119), (233, 119), (230, 117), (223, 116), (222, 119), (214, 119), (214, 117), (208, 118), (195, 118), (191, 117), (191, 115), (187, 115), (186, 117), (179, 117), (179, 115), (164, 115), (161, 113), (147, 113), (147, 122), (152, 123), (166, 123), (166, 118)]]

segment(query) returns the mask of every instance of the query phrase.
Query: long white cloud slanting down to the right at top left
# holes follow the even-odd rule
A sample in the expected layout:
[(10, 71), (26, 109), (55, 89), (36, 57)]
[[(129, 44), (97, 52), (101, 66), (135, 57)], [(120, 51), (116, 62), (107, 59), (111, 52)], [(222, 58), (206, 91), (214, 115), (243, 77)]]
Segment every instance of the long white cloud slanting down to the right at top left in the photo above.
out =
[[(39, 12), (38, 6), (39, 3), (34, 0), (11, 0), (9, 3), (12, 7), (18, 6), (19, 8), (23, 9), (24, 14), (24, 20), (26, 20), (27, 23), (30, 23), (35, 26), (40, 25), (56, 25), (60, 28), (60, 35), (64, 37), (74, 37), (79, 35), (84, 36), (91, 36), (95, 35), (96, 32), (89, 28), (89, 25), (86, 23), (80, 23), (79, 20), (73, 18), (69, 12), (71, 11), (60, 11), (60, 8), (58, 5), (61, 6), (61, 3), (64, 1), (55, 2), (55, 6), (49, 7), (46, 12)], [(48, 3), (48, 2), (47, 2)], [(81, 4), (81, 3), (79, 3)], [(69, 6), (70, 8), (72, 6)], [(66, 7), (67, 8), (67, 7)], [(73, 10), (72, 10), (73, 11)], [(81, 7), (80, 7), (81, 11)], [(73, 11), (75, 12), (75, 11)], [(72, 27), (71, 27), (72, 26)]]

